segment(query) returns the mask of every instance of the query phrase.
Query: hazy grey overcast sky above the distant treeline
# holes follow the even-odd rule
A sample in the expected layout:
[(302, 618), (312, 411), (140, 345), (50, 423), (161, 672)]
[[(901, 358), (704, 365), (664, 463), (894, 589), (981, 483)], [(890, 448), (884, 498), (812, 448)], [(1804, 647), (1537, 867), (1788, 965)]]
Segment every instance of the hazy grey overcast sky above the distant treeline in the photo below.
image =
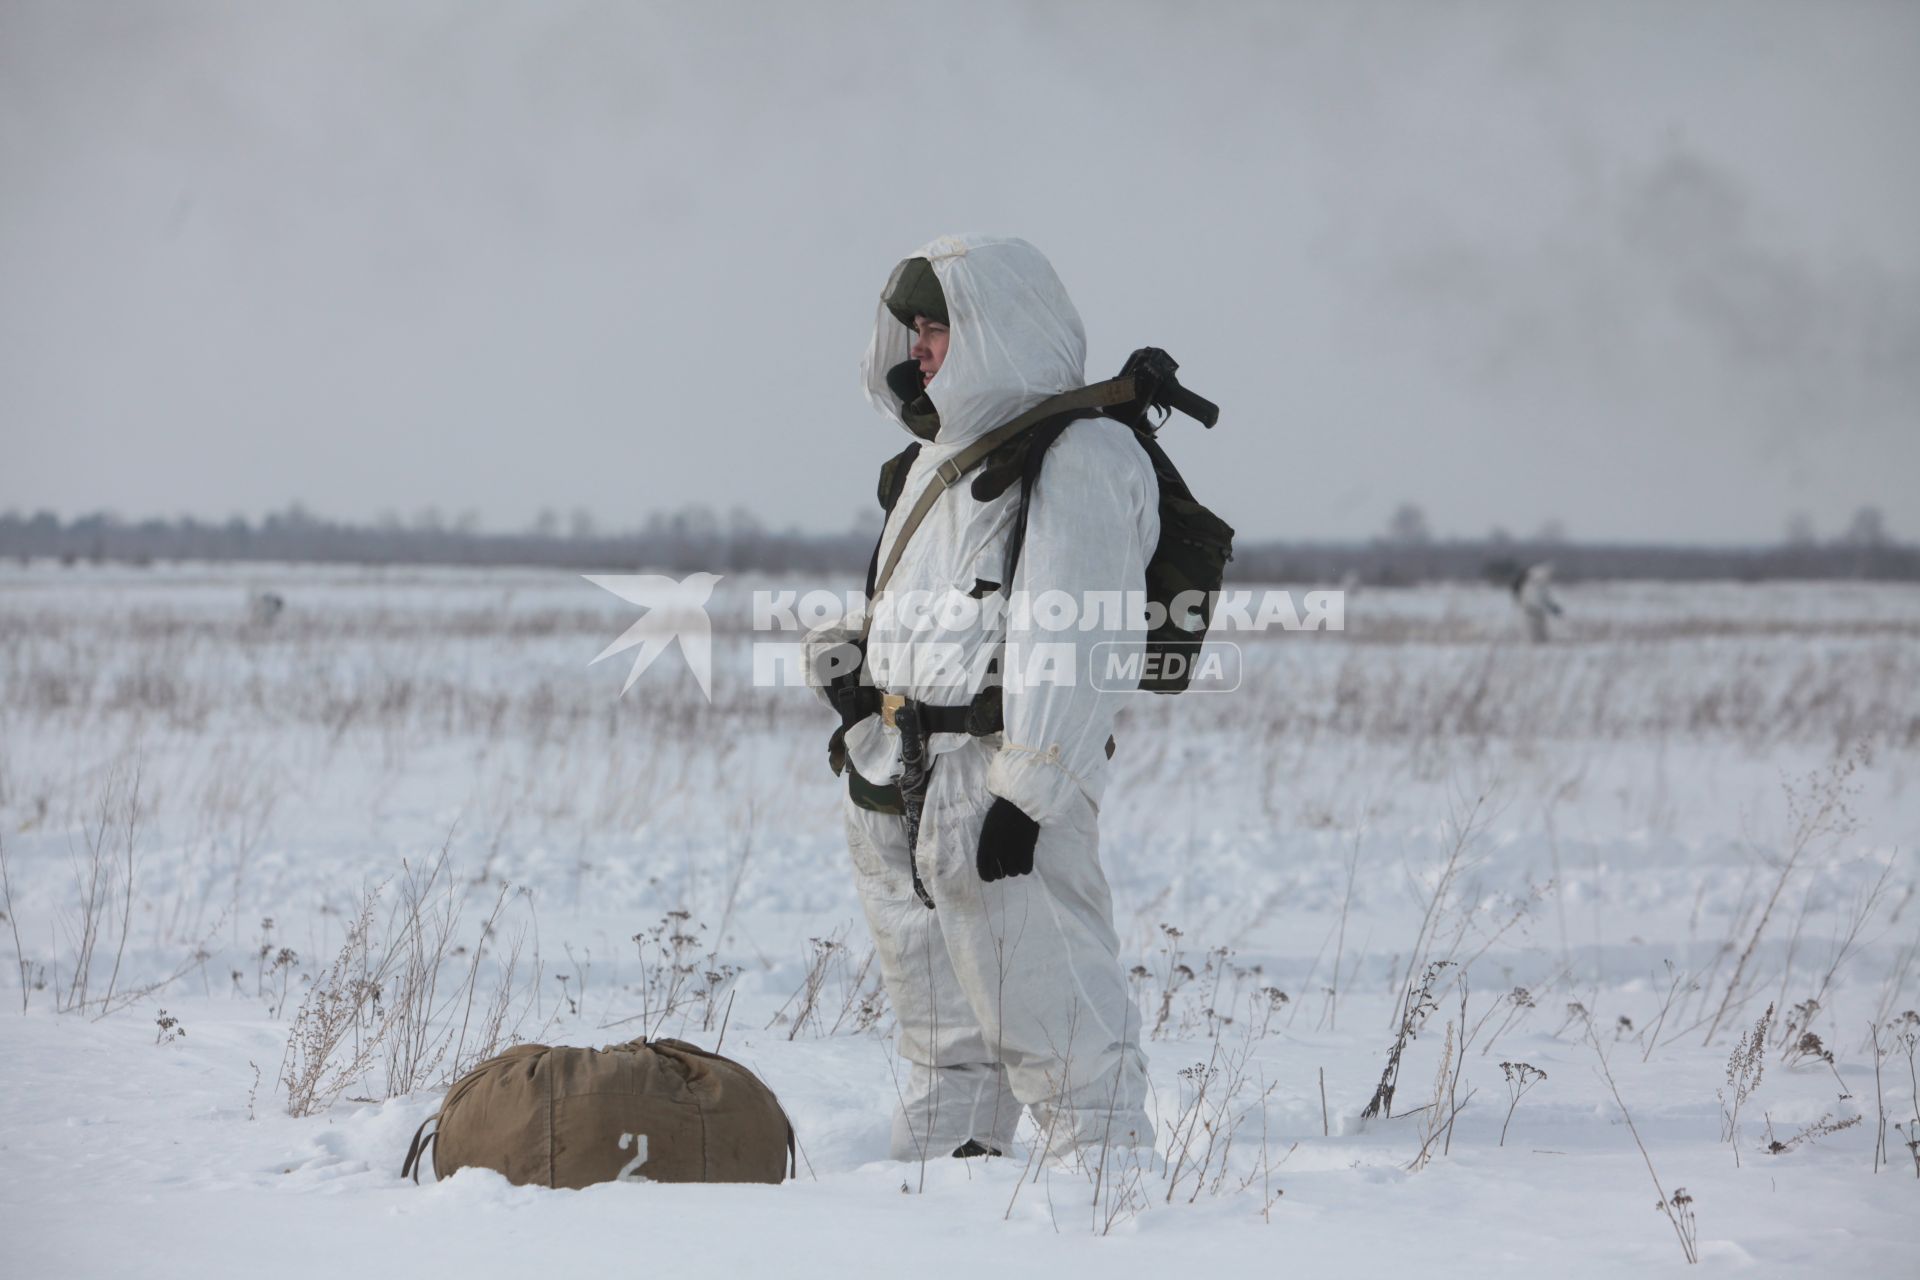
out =
[(1920, 4), (0, 0), (0, 509), (845, 528), (1025, 236), (1246, 535), (1920, 535)]

